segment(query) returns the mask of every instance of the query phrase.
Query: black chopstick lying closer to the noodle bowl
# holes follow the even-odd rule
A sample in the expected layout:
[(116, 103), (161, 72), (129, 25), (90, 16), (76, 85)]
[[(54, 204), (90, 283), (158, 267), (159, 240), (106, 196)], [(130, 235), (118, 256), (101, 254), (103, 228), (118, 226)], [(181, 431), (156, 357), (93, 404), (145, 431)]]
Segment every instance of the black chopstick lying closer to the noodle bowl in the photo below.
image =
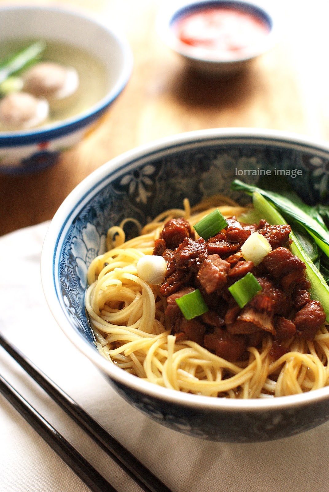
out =
[(171, 492), (168, 487), (134, 457), (115, 437), (98, 424), (18, 348), (0, 334), (0, 345), (55, 400), (60, 407), (146, 492)]

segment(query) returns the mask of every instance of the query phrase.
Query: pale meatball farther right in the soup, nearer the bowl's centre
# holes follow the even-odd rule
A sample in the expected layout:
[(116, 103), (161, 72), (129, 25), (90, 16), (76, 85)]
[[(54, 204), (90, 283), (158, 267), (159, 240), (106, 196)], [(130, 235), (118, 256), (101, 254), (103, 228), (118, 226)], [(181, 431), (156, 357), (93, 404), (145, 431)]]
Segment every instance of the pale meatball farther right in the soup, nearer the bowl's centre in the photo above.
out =
[(79, 86), (75, 68), (54, 62), (40, 62), (23, 74), (24, 90), (47, 99), (63, 99)]

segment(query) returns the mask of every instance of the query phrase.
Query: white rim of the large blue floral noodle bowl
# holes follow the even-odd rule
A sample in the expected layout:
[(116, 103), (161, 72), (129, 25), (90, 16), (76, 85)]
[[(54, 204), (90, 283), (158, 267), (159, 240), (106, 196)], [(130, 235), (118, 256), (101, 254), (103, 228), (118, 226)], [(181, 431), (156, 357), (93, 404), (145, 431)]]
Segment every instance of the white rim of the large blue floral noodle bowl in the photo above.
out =
[[(108, 375), (111, 380), (128, 387), (132, 391), (142, 393), (145, 397), (155, 398), (167, 403), (182, 404), (194, 409), (207, 409), (209, 411), (277, 411), (287, 408), (295, 408), (303, 405), (314, 404), (329, 398), (329, 386), (320, 388), (307, 393), (291, 395), (278, 398), (234, 400), (225, 398), (213, 398), (179, 392), (157, 386), (156, 384), (144, 381), (137, 376), (127, 373), (126, 371), (111, 364), (97, 350), (82, 338), (71, 326), (66, 318), (57, 297), (55, 286), (56, 266), (55, 256), (57, 248), (60, 245), (59, 236), (63, 230), (63, 224), (74, 216), (74, 208), (81, 201), (81, 197), (88, 194), (90, 190), (95, 189), (97, 184), (105, 181), (107, 176), (114, 171), (119, 171), (132, 160), (135, 161), (148, 154), (170, 150), (174, 147), (183, 147), (184, 144), (195, 142), (218, 142), (218, 139), (252, 139), (261, 141), (276, 142), (284, 146), (308, 146), (314, 148), (317, 152), (323, 151), (328, 156), (329, 143), (321, 142), (298, 133), (286, 132), (281, 130), (269, 130), (262, 128), (210, 128), (205, 130), (195, 130), (176, 135), (167, 136), (147, 144), (141, 145), (114, 159), (103, 164), (93, 171), (80, 184), (78, 184), (60, 205), (54, 215), (42, 247), (41, 253), (41, 281), (47, 304), (59, 324), (61, 330), (69, 340), (86, 355), (90, 361), (103, 373)], [(72, 214), (73, 212), (73, 214)]]

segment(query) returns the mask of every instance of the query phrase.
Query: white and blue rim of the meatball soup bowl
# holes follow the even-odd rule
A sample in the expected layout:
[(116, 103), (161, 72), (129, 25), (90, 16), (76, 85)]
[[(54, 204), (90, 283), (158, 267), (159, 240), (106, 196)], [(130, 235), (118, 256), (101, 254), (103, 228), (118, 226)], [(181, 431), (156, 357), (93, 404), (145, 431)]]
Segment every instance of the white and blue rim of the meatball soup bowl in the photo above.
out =
[(122, 69), (118, 80), (113, 87), (95, 104), (89, 109), (79, 113), (76, 116), (66, 118), (59, 123), (52, 123), (45, 127), (34, 128), (30, 130), (17, 130), (1, 131), (0, 132), (0, 146), (13, 147), (16, 145), (24, 145), (40, 142), (43, 140), (50, 140), (61, 137), (73, 131), (76, 131), (95, 120), (109, 104), (120, 94), (125, 85), (127, 84), (133, 67), (133, 54), (131, 47), (125, 37), (115, 31), (112, 27), (101, 22), (97, 18), (88, 15), (87, 12), (75, 10), (73, 8), (61, 7), (59, 5), (4, 5), (0, 7), (0, 15), (4, 11), (27, 11), (27, 12), (59, 12), (69, 18), (79, 18), (87, 21), (90, 25), (96, 26), (103, 30), (108, 36), (112, 37), (121, 49), (122, 56)]

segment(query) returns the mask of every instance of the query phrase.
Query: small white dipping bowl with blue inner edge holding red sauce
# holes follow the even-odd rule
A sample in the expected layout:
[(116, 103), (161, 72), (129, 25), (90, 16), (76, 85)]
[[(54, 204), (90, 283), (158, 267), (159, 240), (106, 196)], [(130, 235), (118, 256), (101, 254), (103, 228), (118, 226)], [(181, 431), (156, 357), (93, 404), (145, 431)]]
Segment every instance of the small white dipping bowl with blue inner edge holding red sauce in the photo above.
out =
[[(163, 7), (157, 16), (157, 31), (169, 48), (178, 53), (194, 69), (214, 75), (227, 75), (243, 69), (251, 60), (267, 52), (279, 39), (279, 22), (274, 2), (248, 0), (195, 0), (172, 2)], [(175, 33), (175, 23), (185, 16), (212, 7), (227, 7), (252, 14), (263, 20), (269, 33), (257, 44), (248, 55), (237, 51), (229, 60), (216, 56), (215, 51), (197, 49), (182, 42)]]

